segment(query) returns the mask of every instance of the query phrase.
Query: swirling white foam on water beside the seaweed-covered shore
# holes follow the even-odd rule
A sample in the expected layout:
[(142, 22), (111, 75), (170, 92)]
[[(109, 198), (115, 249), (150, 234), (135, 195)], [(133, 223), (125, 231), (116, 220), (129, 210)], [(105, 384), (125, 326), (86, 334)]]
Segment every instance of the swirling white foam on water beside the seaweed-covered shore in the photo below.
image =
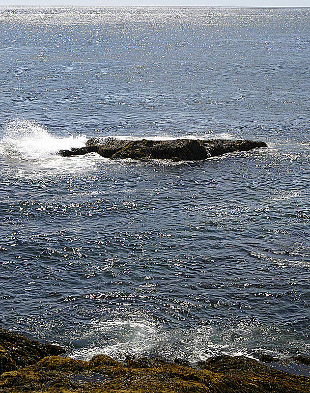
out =
[(160, 356), (169, 361), (180, 358), (192, 363), (220, 354), (258, 359), (261, 351), (257, 347), (265, 335), (271, 337), (271, 332), (265, 331), (257, 321), (249, 320), (222, 326), (210, 321), (188, 329), (166, 330), (160, 323), (139, 317), (115, 318), (96, 321), (86, 335), (92, 338), (92, 343), (70, 356), (83, 360), (99, 353), (119, 360), (128, 355)]

